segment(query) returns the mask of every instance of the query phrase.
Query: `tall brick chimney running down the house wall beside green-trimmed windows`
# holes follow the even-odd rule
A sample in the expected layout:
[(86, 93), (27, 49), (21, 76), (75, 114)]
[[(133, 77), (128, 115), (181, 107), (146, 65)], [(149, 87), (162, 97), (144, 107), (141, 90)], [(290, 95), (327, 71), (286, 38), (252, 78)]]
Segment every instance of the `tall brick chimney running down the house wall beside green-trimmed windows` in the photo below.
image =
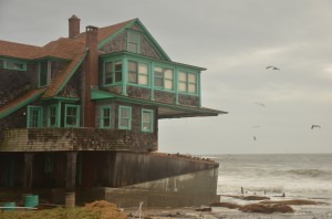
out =
[(95, 102), (91, 100), (91, 90), (97, 87), (98, 83), (98, 50), (97, 50), (97, 33), (98, 29), (93, 25), (86, 27), (86, 64), (84, 76), (84, 126), (95, 127)]

